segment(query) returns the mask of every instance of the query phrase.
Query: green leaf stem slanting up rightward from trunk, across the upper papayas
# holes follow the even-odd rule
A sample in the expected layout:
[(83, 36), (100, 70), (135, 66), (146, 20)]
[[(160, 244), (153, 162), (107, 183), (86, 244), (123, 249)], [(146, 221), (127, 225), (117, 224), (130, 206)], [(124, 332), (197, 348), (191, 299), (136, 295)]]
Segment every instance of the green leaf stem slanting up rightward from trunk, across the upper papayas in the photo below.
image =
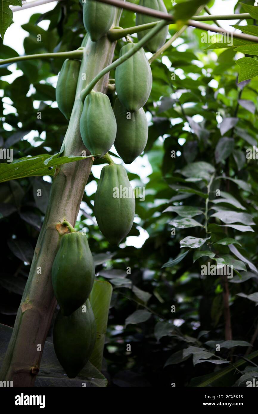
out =
[(92, 89), (94, 88), (96, 83), (99, 82), (99, 79), (101, 79), (102, 76), (106, 75), (106, 73), (109, 73), (111, 70), (115, 69), (118, 65), (121, 65), (121, 63), (125, 62), (125, 60), (129, 59), (132, 55), (139, 51), (140, 48), (142, 48), (142, 46), (144, 46), (145, 43), (147, 43), (149, 39), (155, 36), (155, 34), (158, 33), (158, 31), (161, 30), (164, 26), (166, 26), (166, 22), (159, 22), (159, 24), (157, 24), (157, 26), (151, 29), (149, 33), (147, 33), (138, 43), (135, 43), (135, 46), (132, 49), (130, 49), (130, 51), (126, 52), (115, 62), (111, 63), (111, 65), (101, 70), (101, 72), (99, 72), (98, 75), (96, 75), (94, 79), (92, 79), (92, 81), (87, 85), (87, 87), (81, 92), (80, 96), (82, 101), (84, 101), (86, 96), (92, 91)]

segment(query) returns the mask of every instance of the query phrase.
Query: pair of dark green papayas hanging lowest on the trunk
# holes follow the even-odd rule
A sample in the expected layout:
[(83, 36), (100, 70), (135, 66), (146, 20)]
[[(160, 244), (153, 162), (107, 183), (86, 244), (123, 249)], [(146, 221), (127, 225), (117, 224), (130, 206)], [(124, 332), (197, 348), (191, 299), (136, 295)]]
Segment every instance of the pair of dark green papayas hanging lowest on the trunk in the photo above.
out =
[(87, 236), (72, 230), (61, 237), (52, 266), (52, 284), (60, 310), (55, 319), (55, 354), (69, 378), (89, 360), (96, 341), (96, 323), (89, 294), (95, 276)]

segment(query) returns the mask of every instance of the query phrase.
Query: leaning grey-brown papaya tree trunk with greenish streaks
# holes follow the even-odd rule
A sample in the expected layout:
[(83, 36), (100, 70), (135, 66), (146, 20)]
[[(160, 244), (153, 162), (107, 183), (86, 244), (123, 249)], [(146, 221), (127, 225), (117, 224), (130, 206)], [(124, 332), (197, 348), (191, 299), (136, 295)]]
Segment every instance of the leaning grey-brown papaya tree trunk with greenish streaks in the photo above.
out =
[[(116, 26), (120, 15), (121, 12), (117, 11), (114, 21)], [(80, 135), (83, 107), (80, 92), (100, 70), (112, 62), (115, 43), (111, 43), (106, 36), (92, 42), (86, 35), (82, 46), (84, 53), (76, 99), (62, 146), (65, 156), (80, 156), (85, 151)], [(107, 86), (108, 74), (100, 79), (94, 89), (106, 92)], [(91, 166), (92, 158), (64, 164), (53, 178), (45, 220), (0, 372), (0, 379), (12, 380), (14, 387), (32, 387), (39, 372), (44, 343), (56, 307), (51, 280), (51, 267), (58, 245), (55, 224), (63, 220), (75, 224)]]

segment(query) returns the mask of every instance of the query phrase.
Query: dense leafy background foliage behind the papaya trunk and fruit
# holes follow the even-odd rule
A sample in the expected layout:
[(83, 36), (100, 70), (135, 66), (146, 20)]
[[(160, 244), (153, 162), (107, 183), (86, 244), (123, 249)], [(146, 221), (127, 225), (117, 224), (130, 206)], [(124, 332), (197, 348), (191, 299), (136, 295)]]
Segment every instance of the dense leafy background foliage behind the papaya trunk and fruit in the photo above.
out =
[[(169, 10), (171, 3), (165, 3)], [(243, 12), (239, 3), (236, 10)], [(50, 21), (47, 31), (38, 26), (45, 19)], [(133, 13), (123, 11), (120, 25), (134, 26)], [(84, 36), (81, 5), (60, 2), (22, 27), (28, 33), (25, 54), (75, 50)], [(169, 26), (171, 35), (175, 30)], [(246, 378), (258, 376), (258, 352), (249, 355), (258, 346), (258, 167), (257, 159), (246, 158), (246, 149), (257, 146), (258, 80), (238, 84), (235, 62), (241, 55), (232, 47), (209, 48), (201, 34), (188, 28), (151, 65), (152, 93), (145, 106), (149, 139), (135, 172), (128, 173), (133, 186), (146, 191), (144, 201), (137, 199), (129, 234), (146, 231), (142, 247), (123, 243), (113, 248), (99, 232), (93, 214), (96, 168), (84, 193), (77, 229), (87, 231), (97, 277), (113, 285), (103, 367), (110, 386), (246, 386)], [(118, 42), (115, 58), (124, 40)], [(1, 58), (16, 55), (1, 39)], [(0, 144), (13, 148), (15, 159), (51, 156), (60, 149), (68, 123), (53, 105), (53, 77), (62, 63), (17, 63), (22, 72), (12, 83), (5, 80), (10, 70), (0, 68)], [(113, 103), (115, 95), (109, 97)], [(117, 156), (115, 161), (121, 162)], [(0, 323), (5, 325), (14, 324), (51, 179), (0, 184)], [(39, 186), (43, 197), (36, 196)], [(202, 239), (198, 248), (188, 236)], [(201, 276), (201, 265), (208, 261), (233, 264), (234, 277)], [(227, 300), (232, 340), (226, 341)], [(52, 329), (47, 339), (52, 341)], [(220, 352), (215, 344), (221, 344)]]

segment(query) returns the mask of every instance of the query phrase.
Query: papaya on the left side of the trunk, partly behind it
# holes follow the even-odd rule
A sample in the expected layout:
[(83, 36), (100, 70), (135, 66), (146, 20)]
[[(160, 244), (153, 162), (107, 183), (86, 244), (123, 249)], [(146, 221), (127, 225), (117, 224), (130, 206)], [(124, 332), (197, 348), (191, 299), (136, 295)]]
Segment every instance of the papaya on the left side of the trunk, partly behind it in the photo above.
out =
[(67, 120), (70, 119), (72, 107), (75, 102), (80, 66), (80, 60), (66, 59), (58, 75), (58, 81), (55, 88), (55, 99), (58, 108)]

